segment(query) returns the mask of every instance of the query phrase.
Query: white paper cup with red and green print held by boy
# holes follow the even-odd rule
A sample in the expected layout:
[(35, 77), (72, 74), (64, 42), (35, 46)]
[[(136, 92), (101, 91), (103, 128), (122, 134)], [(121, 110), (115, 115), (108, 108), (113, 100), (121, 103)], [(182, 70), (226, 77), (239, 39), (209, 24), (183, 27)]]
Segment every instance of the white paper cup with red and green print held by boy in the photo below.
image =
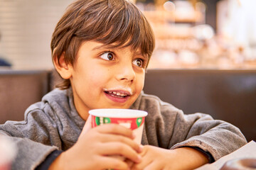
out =
[(117, 123), (133, 130), (134, 141), (140, 144), (142, 142), (142, 132), (146, 111), (119, 108), (102, 108), (89, 111), (92, 115), (92, 128), (106, 123)]

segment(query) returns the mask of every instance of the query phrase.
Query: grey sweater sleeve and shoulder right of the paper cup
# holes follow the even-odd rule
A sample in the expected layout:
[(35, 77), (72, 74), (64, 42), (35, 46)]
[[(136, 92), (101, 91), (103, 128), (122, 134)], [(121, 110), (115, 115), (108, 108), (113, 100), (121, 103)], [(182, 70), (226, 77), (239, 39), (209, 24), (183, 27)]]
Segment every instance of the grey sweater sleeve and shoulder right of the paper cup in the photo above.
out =
[(210, 163), (247, 143), (234, 125), (213, 120), (210, 115), (203, 113), (185, 115), (156, 96), (142, 94), (132, 108), (149, 113), (145, 119), (143, 145), (161, 147), (171, 152), (183, 147), (198, 147), (202, 151), (199, 153), (209, 153), (208, 156), (213, 157), (208, 159)]

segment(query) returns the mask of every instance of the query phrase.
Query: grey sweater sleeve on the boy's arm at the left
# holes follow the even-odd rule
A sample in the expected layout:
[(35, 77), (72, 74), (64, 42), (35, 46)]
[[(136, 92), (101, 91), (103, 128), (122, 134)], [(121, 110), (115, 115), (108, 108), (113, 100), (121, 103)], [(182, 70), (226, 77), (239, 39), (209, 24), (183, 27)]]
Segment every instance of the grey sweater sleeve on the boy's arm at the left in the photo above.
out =
[(7, 121), (0, 125), (0, 135), (10, 138), (17, 154), (12, 169), (35, 169), (55, 150), (61, 149), (56, 125), (43, 111), (31, 111), (26, 120)]

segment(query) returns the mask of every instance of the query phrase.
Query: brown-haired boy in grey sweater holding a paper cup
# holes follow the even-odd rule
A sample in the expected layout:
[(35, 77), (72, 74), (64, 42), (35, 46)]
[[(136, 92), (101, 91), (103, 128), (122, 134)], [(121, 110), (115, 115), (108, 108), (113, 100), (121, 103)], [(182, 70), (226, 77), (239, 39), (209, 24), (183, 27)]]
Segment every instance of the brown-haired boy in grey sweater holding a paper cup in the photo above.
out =
[[(75, 1), (57, 24), (51, 49), (65, 79), (60, 89), (30, 106), (23, 122), (0, 125), (18, 146), (13, 169), (195, 169), (246, 143), (233, 125), (183, 115), (142, 92), (154, 35), (127, 0)], [(91, 129), (88, 111), (95, 108), (147, 111), (144, 147), (120, 125)], [(116, 154), (126, 160), (110, 157)]]

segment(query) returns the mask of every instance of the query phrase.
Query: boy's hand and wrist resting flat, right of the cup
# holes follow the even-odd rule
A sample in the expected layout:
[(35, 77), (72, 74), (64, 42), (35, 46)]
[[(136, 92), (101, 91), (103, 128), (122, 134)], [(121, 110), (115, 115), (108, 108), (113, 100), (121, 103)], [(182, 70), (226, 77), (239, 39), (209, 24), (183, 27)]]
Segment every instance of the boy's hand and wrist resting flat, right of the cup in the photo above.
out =
[(137, 164), (129, 162), (132, 170), (195, 169), (208, 163), (203, 153), (190, 147), (169, 150), (146, 145), (141, 155), (142, 162)]

